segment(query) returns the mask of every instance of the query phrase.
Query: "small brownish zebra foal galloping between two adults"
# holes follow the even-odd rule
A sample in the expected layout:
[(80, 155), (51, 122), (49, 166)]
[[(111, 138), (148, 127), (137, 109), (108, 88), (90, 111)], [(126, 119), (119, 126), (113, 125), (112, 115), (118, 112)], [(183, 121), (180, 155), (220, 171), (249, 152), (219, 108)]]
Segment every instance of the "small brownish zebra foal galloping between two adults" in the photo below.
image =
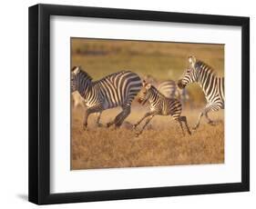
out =
[(182, 111), (182, 105), (176, 98), (167, 98), (161, 93), (159, 93), (158, 89), (151, 84), (148, 84), (147, 82), (142, 82), (142, 88), (140, 93), (138, 94), (138, 103), (140, 104), (150, 104), (150, 111), (146, 113), (137, 124), (133, 125), (133, 128), (136, 129), (138, 124), (140, 124), (144, 119), (148, 117), (148, 120), (146, 121), (146, 124), (142, 127), (140, 132), (137, 133), (137, 136), (139, 134), (142, 134), (144, 128), (147, 126), (147, 124), (150, 122), (150, 120), (155, 115), (170, 115), (172, 118), (178, 122), (182, 134), (185, 135), (182, 122), (186, 125), (187, 131), (189, 134), (189, 126), (187, 123), (187, 117), (186, 116), (180, 116)]

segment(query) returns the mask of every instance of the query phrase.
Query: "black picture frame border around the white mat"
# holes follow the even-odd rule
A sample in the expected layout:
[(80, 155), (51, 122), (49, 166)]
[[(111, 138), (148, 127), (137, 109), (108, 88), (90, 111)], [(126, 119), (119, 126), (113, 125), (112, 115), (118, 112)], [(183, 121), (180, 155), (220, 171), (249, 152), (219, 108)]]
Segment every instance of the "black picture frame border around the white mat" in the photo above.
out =
[[(241, 183), (50, 194), (50, 16), (241, 26)], [(250, 190), (250, 18), (114, 8), (33, 5), (29, 7), (29, 201), (64, 204), (130, 198), (216, 194)]]

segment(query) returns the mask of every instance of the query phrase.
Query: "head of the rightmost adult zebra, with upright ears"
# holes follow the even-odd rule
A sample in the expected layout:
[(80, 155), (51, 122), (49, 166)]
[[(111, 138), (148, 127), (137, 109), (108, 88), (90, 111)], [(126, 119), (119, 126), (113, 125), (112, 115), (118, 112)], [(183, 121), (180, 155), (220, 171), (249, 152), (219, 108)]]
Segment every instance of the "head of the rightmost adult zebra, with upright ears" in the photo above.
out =
[(180, 89), (183, 89), (187, 85), (198, 81), (199, 74), (198, 74), (198, 70), (195, 67), (196, 62), (197, 62), (196, 57), (193, 55), (190, 55), (189, 68), (185, 70), (185, 72), (183, 73), (183, 75), (178, 81), (178, 86)]

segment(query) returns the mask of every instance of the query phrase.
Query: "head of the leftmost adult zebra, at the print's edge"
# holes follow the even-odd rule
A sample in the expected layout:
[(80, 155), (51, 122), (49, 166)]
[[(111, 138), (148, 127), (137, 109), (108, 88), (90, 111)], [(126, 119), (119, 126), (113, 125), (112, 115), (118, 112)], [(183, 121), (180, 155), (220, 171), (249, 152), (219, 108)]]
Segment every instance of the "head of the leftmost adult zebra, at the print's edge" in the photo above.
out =
[(81, 66), (74, 66), (71, 70), (71, 93), (76, 91), (85, 95), (91, 85), (92, 77), (84, 72)]

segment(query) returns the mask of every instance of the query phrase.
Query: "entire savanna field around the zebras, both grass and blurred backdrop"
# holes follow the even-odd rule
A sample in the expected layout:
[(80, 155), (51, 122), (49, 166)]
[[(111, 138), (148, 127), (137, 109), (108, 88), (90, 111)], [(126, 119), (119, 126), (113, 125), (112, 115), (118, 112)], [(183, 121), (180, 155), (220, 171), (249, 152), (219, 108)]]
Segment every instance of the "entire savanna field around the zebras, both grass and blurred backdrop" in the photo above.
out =
[[(218, 75), (224, 75), (223, 45), (71, 39), (71, 65), (81, 65), (94, 80), (128, 69), (140, 77), (153, 76), (159, 82), (166, 79), (177, 81), (188, 65), (189, 55), (199, 57), (216, 69)], [(187, 116), (191, 129), (206, 102), (198, 85), (190, 85), (188, 91), (189, 102), (184, 106), (182, 115)], [(107, 124), (120, 110), (104, 111), (100, 122)], [(73, 170), (224, 163), (223, 110), (209, 114), (211, 119), (219, 120), (219, 124), (211, 126), (202, 118), (199, 129), (185, 136), (170, 116), (158, 115), (138, 137), (132, 124), (148, 112), (147, 104), (142, 106), (134, 101), (131, 114), (119, 129), (97, 127), (96, 116), (91, 114), (87, 131), (84, 131), (84, 108), (78, 106), (71, 112)]]

